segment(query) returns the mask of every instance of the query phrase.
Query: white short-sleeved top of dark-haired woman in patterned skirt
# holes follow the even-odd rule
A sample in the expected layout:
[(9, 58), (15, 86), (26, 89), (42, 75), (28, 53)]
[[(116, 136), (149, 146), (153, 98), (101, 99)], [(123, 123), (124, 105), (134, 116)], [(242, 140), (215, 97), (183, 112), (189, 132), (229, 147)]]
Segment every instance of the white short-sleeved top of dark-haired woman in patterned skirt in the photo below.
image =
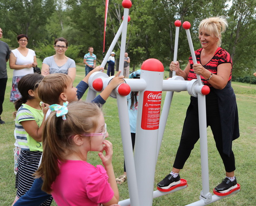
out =
[[(26, 57), (23, 56), (18, 49), (13, 49), (11, 52), (17, 58), (15, 63), (17, 65), (32, 64), (34, 62), (35, 51), (33, 51), (32, 49), (28, 49), (28, 54), (26, 55)], [(25, 76), (26, 74), (33, 74), (33, 73), (34, 73), (33, 67), (13, 70), (13, 76)]]

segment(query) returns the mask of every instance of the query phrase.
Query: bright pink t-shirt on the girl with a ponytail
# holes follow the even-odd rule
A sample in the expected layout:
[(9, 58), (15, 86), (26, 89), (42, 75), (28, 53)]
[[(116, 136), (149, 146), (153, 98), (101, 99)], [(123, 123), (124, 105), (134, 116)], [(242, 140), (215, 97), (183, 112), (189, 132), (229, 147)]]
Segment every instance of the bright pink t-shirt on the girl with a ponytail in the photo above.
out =
[(60, 164), (60, 174), (52, 183), (52, 197), (61, 206), (99, 206), (110, 201), (114, 192), (101, 165), (67, 160)]

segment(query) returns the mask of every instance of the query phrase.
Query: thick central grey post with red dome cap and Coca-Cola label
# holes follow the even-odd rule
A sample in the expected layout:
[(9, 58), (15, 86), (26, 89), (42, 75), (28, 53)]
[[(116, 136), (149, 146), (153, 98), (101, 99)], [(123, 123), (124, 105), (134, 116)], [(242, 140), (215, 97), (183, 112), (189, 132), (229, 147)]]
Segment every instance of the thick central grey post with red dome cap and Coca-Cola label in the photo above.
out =
[(163, 75), (164, 67), (159, 60), (143, 62), (140, 78), (146, 87), (139, 93), (134, 152), (140, 206), (150, 206), (153, 201)]

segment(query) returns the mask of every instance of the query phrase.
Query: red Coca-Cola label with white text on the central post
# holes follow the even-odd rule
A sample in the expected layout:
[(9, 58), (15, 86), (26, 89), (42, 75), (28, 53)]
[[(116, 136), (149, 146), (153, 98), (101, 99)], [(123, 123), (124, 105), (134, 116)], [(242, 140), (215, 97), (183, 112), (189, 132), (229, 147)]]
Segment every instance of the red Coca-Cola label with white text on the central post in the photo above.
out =
[(145, 91), (141, 117), (143, 130), (157, 130), (160, 120), (162, 91)]

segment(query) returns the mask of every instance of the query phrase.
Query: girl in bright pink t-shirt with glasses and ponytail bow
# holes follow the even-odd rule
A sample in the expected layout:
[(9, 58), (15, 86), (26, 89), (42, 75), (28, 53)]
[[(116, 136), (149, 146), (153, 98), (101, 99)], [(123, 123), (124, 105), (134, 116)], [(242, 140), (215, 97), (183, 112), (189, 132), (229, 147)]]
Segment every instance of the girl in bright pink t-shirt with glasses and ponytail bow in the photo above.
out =
[[(113, 147), (105, 139), (108, 132), (100, 108), (77, 101), (53, 104), (50, 109), (43, 130), (42, 163), (36, 172), (37, 178), (44, 179), (42, 190), (61, 206), (116, 206)], [(104, 167), (87, 162), (89, 151), (100, 151)]]

